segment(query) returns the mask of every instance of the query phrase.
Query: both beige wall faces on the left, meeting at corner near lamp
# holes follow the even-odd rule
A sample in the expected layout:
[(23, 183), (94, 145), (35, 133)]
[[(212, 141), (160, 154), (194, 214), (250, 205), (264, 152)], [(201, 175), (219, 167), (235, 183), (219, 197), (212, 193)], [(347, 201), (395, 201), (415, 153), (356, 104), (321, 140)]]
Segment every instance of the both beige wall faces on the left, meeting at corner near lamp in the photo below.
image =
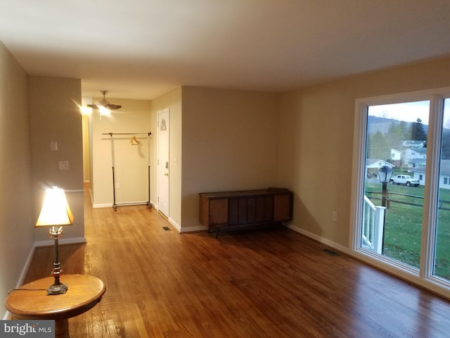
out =
[[(0, 43), (0, 292), (18, 286), (35, 242), (48, 241), (34, 229), (43, 188), (68, 189), (75, 224), (63, 240), (84, 239), (82, 194), (82, 125), (77, 108), (80, 80), (28, 77)], [(50, 151), (50, 142), (58, 151)], [(60, 172), (58, 161), (70, 161)], [(73, 241), (72, 241), (73, 242)], [(6, 311), (1, 309), (0, 317)]]

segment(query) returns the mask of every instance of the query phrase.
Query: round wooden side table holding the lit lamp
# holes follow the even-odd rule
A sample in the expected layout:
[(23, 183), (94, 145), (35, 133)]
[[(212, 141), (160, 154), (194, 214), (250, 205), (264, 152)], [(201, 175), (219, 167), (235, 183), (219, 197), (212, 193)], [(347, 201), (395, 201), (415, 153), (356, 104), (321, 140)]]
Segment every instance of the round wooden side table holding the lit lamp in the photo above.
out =
[(13, 290), (5, 301), (6, 309), (17, 319), (53, 319), (56, 337), (69, 337), (68, 318), (84, 313), (101, 301), (105, 285), (88, 275), (61, 275), (68, 285), (65, 294), (47, 295), (53, 277), (42, 278)]

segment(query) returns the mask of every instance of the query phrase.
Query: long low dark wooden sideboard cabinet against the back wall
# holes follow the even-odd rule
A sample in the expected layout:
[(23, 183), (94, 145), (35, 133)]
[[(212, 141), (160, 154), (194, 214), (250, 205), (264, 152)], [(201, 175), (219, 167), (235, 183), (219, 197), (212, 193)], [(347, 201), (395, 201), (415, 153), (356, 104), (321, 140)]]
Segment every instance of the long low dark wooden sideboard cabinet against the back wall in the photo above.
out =
[(280, 224), (293, 218), (293, 194), (268, 188), (200, 193), (200, 223), (210, 232)]

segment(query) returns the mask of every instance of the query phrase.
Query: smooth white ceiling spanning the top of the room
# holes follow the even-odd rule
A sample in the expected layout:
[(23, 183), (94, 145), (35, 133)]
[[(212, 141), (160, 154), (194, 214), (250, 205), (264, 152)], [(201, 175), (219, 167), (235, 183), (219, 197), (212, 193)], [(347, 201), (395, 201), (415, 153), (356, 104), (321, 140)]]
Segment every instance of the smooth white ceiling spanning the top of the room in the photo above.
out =
[[(0, 41), (83, 96), (285, 91), (450, 56), (449, 0), (0, 0)], [(0, 61), (1, 62), (1, 61)]]

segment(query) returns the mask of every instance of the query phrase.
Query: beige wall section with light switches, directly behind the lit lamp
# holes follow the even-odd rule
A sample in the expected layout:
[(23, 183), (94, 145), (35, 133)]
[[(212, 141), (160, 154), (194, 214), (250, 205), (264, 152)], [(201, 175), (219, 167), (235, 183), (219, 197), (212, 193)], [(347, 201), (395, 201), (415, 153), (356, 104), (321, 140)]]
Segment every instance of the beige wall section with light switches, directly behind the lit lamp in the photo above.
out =
[[(83, 153), (81, 81), (58, 77), (30, 77), (30, 123), (32, 179), (35, 196), (34, 221), (44, 199), (46, 187), (65, 189), (75, 217), (65, 227), (64, 239), (84, 239)], [(52, 141), (58, 151), (51, 151)], [(59, 161), (69, 161), (69, 170), (59, 170)], [(34, 229), (35, 241), (49, 240), (47, 230)]]

